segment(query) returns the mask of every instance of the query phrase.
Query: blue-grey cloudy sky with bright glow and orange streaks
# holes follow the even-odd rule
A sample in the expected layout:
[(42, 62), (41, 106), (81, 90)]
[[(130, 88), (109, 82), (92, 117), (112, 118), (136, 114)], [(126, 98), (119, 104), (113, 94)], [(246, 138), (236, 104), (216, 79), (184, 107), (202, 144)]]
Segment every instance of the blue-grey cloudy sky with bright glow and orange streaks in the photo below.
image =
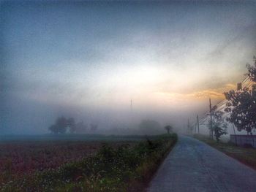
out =
[(0, 17), (0, 134), (60, 115), (113, 124), (131, 99), (141, 118), (181, 123), (255, 55), (253, 1), (1, 1)]

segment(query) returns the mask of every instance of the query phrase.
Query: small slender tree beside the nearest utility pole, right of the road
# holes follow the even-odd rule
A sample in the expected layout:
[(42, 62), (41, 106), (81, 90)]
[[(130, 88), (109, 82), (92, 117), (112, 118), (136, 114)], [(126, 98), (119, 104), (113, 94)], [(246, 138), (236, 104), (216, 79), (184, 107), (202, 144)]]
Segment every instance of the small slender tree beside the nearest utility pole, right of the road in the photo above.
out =
[[(219, 138), (223, 134), (227, 134), (227, 123), (225, 122), (225, 119), (223, 118), (224, 112), (218, 111), (217, 106), (214, 106), (211, 108), (211, 115), (212, 115), (212, 128), (214, 131), (214, 136), (219, 142)], [(211, 123), (211, 122), (209, 122)], [(209, 125), (211, 126), (211, 125)]]

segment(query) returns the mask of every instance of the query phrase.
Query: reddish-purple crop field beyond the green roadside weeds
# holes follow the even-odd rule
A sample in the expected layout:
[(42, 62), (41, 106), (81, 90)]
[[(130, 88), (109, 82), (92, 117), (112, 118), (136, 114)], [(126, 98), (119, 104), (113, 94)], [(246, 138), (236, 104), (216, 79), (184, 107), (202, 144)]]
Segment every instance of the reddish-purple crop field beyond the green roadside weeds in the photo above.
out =
[[(124, 143), (109, 142), (118, 147)], [(0, 142), (0, 183), (35, 171), (54, 169), (61, 164), (80, 161), (97, 153), (102, 142), (16, 141)]]

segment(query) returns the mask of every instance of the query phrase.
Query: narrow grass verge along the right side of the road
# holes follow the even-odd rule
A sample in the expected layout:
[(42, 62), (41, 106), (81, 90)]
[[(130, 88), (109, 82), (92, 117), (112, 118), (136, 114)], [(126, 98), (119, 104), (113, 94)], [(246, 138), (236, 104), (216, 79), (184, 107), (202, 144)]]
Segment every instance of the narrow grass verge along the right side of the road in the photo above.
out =
[(216, 142), (214, 140), (209, 139), (206, 136), (199, 134), (196, 134), (194, 137), (202, 142), (205, 142), (211, 147), (216, 148), (222, 153), (225, 153), (226, 155), (235, 158), (242, 164), (246, 164), (247, 166), (250, 166), (252, 167), (252, 169), (256, 170), (256, 149), (238, 147), (231, 142)]

